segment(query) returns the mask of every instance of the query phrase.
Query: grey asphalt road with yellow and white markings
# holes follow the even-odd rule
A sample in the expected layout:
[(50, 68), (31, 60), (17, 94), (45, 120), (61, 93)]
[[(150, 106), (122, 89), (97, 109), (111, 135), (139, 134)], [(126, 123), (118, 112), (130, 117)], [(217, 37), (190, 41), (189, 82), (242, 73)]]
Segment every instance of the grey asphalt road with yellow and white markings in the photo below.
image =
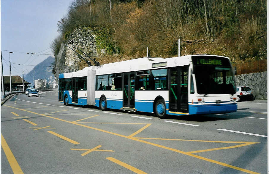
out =
[(223, 115), (64, 106), (58, 91), (1, 106), (2, 173), (267, 173), (267, 101)]

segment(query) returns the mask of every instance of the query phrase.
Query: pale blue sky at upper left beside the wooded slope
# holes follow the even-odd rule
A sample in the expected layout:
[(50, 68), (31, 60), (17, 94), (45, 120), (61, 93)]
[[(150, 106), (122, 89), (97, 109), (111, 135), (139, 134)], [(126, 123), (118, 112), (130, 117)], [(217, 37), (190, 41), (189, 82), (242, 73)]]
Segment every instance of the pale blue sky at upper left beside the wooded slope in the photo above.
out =
[[(1, 51), (4, 75), (22, 76), (53, 54), (50, 44), (59, 33), (57, 23), (73, 0), (1, 0)], [(8, 50), (8, 51), (4, 51)], [(44, 51), (43, 51), (44, 50)], [(9, 54), (9, 52), (13, 52)], [(54, 56), (53, 56), (54, 57)], [(24, 65), (18, 65), (24, 64)]]

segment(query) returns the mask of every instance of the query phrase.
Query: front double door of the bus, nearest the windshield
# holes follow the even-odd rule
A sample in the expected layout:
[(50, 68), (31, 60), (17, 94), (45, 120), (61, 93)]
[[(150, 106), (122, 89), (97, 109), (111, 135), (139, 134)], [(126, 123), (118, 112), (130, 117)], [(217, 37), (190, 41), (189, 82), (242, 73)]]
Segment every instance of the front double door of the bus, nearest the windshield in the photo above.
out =
[(170, 69), (169, 111), (188, 113), (188, 69)]

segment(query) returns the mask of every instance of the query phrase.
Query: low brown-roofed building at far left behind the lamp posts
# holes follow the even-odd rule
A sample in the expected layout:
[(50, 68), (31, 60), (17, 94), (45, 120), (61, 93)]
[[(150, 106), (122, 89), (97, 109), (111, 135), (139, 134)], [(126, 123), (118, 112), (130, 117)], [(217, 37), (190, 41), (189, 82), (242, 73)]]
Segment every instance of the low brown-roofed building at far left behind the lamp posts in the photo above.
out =
[[(10, 91), (10, 76), (4, 75), (3, 80), (4, 80), (4, 91), (5, 92)], [(29, 84), (30, 84), (29, 82), (24, 80), (24, 91), (26, 90)], [(12, 75), (11, 86), (12, 86), (12, 91), (23, 91), (22, 78), (19, 75)]]

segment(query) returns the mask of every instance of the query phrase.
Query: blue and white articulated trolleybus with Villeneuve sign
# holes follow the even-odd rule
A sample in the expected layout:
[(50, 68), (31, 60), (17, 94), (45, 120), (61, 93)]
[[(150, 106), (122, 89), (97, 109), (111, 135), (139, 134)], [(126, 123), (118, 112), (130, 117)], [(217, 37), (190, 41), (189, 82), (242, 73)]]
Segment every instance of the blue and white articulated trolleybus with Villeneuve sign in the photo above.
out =
[(105, 111), (152, 112), (159, 118), (236, 112), (228, 57), (142, 57), (59, 75), (59, 102)]

